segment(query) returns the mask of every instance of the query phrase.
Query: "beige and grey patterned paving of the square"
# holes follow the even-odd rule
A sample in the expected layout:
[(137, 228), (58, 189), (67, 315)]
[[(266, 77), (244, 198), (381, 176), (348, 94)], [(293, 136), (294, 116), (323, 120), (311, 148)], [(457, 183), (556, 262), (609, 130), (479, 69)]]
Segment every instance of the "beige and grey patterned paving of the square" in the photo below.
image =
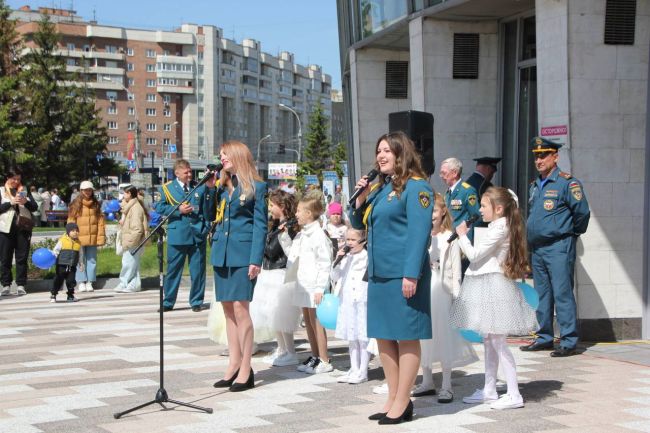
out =
[[(212, 383), (227, 359), (207, 337), (207, 311), (192, 312), (187, 292), (165, 314), (164, 384), (170, 398), (213, 414), (170, 404), (166, 411), (154, 405), (113, 418), (153, 399), (159, 387), (156, 290), (80, 293), (74, 304), (50, 304), (47, 293), (30, 293), (0, 298), (0, 432), (650, 432), (650, 366), (607, 357), (605, 349), (552, 359), (548, 352), (516, 350), (512, 341), (525, 408), (463, 404), (462, 396), (482, 385), (477, 362), (454, 372), (453, 403), (416, 399), (414, 421), (398, 426), (367, 420), (384, 400), (371, 392), (382, 378), (376, 361), (369, 382), (336, 382), (348, 367), (346, 344), (336, 340), (331, 351), (340, 371), (306, 375), (269, 367), (261, 353), (254, 358), (253, 390), (217, 390)], [(306, 356), (304, 332), (297, 338)], [(647, 352), (640, 346), (635, 356)], [(630, 351), (623, 347), (610, 351), (620, 357)]]

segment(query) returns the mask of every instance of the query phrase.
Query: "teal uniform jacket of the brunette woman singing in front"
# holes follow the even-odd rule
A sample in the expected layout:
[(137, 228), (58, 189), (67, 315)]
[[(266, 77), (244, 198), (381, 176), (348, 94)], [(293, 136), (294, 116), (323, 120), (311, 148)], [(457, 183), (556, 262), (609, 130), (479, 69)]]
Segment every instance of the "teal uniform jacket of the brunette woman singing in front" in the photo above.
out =
[(428, 267), (433, 190), (423, 179), (409, 179), (401, 197), (391, 184), (370, 193), (361, 209), (350, 210), (352, 227), (363, 229), (363, 218), (372, 206), (368, 224), (368, 276), (420, 278)]

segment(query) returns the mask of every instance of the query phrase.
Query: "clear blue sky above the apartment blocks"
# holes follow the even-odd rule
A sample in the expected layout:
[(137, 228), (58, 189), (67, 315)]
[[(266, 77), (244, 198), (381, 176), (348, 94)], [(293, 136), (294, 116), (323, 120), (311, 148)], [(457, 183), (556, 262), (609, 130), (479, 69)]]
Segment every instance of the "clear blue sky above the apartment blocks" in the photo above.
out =
[(318, 64), (341, 88), (338, 27), (334, 0), (8, 0), (13, 9), (29, 5), (74, 9), (99, 24), (171, 30), (181, 23), (211, 24), (229, 39), (253, 38), (270, 54), (290, 51), (299, 64)]

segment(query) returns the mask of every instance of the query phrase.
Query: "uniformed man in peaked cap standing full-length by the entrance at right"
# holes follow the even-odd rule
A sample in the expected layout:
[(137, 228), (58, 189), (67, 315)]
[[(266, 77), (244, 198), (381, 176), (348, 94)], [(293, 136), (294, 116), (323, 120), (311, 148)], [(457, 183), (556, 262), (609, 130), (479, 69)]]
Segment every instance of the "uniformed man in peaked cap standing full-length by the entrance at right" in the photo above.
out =
[(539, 176), (531, 182), (527, 222), (533, 280), (539, 293), (535, 341), (524, 351), (553, 350), (553, 308), (560, 327), (560, 345), (553, 357), (576, 353), (578, 317), (573, 295), (576, 241), (587, 231), (589, 204), (578, 179), (557, 166), (560, 143), (532, 140)]

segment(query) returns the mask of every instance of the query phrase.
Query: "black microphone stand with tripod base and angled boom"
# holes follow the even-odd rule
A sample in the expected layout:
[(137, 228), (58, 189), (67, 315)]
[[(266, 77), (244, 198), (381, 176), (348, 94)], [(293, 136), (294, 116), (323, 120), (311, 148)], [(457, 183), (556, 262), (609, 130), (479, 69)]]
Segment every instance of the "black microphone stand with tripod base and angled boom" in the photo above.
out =
[(179, 406), (185, 406), (189, 407), (192, 409), (200, 410), (206, 413), (212, 413), (212, 408), (209, 407), (201, 407), (201, 406), (196, 406), (190, 403), (185, 403), (182, 401), (178, 400), (172, 400), (169, 398), (169, 395), (167, 394), (167, 390), (165, 390), (165, 369), (164, 369), (164, 346), (165, 346), (165, 341), (163, 338), (163, 292), (164, 292), (164, 271), (163, 271), (163, 238), (165, 236), (165, 230), (163, 229), (163, 224), (167, 222), (171, 214), (173, 214), (179, 207), (180, 205), (185, 202), (188, 198), (192, 197), (192, 194), (198, 187), (203, 185), (205, 182), (208, 181), (208, 179), (213, 176), (214, 173), (211, 173), (208, 171), (206, 175), (199, 181), (199, 183), (196, 184), (194, 188), (187, 194), (185, 194), (185, 197), (183, 197), (183, 200), (181, 200), (174, 208), (167, 214), (165, 217), (158, 223), (158, 225), (149, 233), (149, 236), (145, 237), (142, 242), (140, 242), (140, 245), (137, 247), (129, 250), (131, 254), (137, 254), (138, 251), (144, 246), (144, 244), (147, 243), (147, 241), (154, 235), (157, 235), (157, 242), (156, 244), (158, 245), (158, 304), (159, 304), (159, 309), (158, 309), (158, 314), (159, 314), (159, 319), (158, 322), (160, 324), (160, 338), (159, 338), (159, 347), (160, 347), (160, 388), (158, 388), (158, 391), (156, 392), (156, 396), (154, 397), (153, 400), (148, 401), (146, 403), (140, 404), (138, 406), (132, 407), (130, 409), (127, 409), (122, 412), (116, 412), (113, 414), (113, 418), (119, 419), (123, 415), (126, 415), (128, 413), (131, 413), (133, 411), (136, 411), (138, 409), (142, 409), (143, 407), (150, 406), (152, 404), (159, 404), (162, 406), (163, 409), (167, 410), (167, 407), (164, 405), (164, 403), (172, 403), (176, 404)]

